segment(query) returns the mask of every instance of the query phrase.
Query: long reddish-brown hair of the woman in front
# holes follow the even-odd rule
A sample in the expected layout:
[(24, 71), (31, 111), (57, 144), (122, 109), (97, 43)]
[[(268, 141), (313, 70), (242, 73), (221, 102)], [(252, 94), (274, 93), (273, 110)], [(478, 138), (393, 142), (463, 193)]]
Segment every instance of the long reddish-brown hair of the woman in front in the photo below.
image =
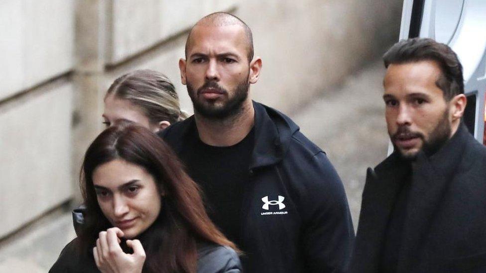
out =
[(139, 238), (147, 255), (144, 272), (195, 273), (196, 242), (211, 242), (238, 251), (209, 219), (199, 187), (183, 171), (174, 152), (148, 129), (125, 122), (107, 128), (86, 151), (80, 176), (87, 209), (86, 227), (79, 236), (82, 253), (89, 253), (99, 232), (111, 227), (97, 201), (93, 172), (116, 159), (144, 168), (158, 189), (164, 190), (158, 218)]

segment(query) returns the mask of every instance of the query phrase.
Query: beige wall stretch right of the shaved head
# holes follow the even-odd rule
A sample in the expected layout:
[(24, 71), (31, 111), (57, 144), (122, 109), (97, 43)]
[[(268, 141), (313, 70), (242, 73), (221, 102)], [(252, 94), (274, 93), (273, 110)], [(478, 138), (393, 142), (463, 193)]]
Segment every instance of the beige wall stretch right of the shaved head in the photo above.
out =
[(401, 1), (247, 0), (237, 15), (263, 61), (253, 97), (293, 111), (398, 39)]

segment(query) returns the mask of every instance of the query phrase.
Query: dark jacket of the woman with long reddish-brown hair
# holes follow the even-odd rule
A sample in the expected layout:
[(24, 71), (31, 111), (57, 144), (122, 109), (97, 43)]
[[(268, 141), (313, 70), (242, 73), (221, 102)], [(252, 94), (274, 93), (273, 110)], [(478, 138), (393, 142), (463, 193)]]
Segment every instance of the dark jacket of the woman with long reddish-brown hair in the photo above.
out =
[[(71, 241), (59, 255), (49, 273), (98, 273), (93, 255), (81, 255), (78, 239)], [(241, 273), (242, 266), (237, 253), (229, 247), (214, 244), (198, 244), (197, 273)]]

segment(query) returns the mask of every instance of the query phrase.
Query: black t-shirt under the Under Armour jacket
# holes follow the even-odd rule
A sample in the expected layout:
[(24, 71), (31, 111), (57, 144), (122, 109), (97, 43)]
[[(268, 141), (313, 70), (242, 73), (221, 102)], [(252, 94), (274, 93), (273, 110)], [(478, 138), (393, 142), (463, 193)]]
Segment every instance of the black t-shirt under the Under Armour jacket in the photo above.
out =
[(234, 243), (241, 246), (241, 210), (249, 163), (254, 144), (254, 129), (238, 144), (215, 147), (197, 141), (185, 158), (190, 177), (198, 183), (211, 220)]

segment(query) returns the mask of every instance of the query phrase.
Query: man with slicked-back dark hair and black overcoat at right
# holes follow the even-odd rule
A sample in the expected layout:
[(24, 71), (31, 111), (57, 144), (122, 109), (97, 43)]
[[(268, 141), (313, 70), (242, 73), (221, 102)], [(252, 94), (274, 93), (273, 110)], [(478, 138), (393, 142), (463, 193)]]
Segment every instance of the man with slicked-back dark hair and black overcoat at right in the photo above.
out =
[(486, 272), (486, 147), (461, 121), (462, 66), (423, 38), (383, 59), (394, 152), (367, 170), (351, 270)]

